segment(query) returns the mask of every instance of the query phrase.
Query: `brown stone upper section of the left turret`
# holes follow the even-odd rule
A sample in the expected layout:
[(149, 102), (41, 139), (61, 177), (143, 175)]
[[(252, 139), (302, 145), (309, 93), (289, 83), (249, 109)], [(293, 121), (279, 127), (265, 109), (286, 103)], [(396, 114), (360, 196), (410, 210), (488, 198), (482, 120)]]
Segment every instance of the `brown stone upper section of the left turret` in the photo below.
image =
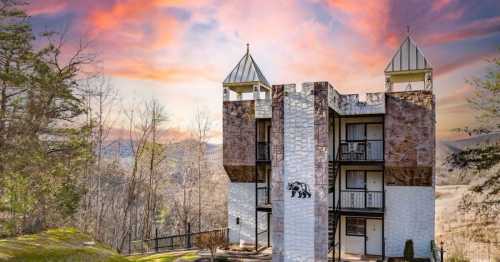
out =
[(255, 101), (224, 101), (223, 165), (232, 182), (255, 181)]

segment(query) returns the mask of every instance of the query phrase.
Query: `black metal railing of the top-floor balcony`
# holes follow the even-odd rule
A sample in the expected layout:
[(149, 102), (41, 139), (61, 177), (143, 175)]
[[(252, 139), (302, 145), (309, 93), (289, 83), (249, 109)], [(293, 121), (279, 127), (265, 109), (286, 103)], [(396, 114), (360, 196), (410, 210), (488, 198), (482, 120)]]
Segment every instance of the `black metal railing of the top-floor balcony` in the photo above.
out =
[(347, 161), (382, 161), (384, 140), (342, 140), (339, 156), (340, 160)]

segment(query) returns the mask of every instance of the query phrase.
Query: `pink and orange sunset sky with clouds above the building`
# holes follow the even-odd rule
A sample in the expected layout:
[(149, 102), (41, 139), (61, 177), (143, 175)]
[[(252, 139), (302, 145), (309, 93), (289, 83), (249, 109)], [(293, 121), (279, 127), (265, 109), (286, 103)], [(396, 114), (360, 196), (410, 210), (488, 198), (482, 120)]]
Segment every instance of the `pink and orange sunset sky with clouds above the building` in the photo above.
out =
[(500, 47), (498, 0), (33, 0), (27, 11), (35, 31), (91, 40), (121, 96), (157, 98), (180, 129), (196, 107), (220, 128), (221, 83), (247, 42), (271, 84), (326, 80), (342, 93), (376, 92), (409, 25), (434, 68), (438, 139), (451, 138), (473, 118), (465, 80)]

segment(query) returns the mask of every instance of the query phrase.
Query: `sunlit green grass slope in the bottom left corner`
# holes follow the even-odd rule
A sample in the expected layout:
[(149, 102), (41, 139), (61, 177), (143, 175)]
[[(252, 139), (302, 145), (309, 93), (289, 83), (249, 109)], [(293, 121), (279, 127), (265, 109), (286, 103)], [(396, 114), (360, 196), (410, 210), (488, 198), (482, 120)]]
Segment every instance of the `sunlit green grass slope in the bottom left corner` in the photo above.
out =
[(106, 245), (85, 246), (87, 241), (92, 238), (74, 228), (0, 239), (0, 261), (130, 261)]

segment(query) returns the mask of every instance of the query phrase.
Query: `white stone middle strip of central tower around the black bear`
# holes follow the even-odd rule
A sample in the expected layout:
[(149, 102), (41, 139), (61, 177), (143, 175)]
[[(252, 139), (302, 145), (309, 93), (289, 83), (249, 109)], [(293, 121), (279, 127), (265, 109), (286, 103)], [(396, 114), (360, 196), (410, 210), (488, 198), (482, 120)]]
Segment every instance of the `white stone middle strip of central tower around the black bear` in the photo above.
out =
[[(314, 261), (314, 106), (309, 88), (285, 90), (284, 250), (285, 261)], [(309, 185), (311, 198), (291, 198), (288, 183)]]

